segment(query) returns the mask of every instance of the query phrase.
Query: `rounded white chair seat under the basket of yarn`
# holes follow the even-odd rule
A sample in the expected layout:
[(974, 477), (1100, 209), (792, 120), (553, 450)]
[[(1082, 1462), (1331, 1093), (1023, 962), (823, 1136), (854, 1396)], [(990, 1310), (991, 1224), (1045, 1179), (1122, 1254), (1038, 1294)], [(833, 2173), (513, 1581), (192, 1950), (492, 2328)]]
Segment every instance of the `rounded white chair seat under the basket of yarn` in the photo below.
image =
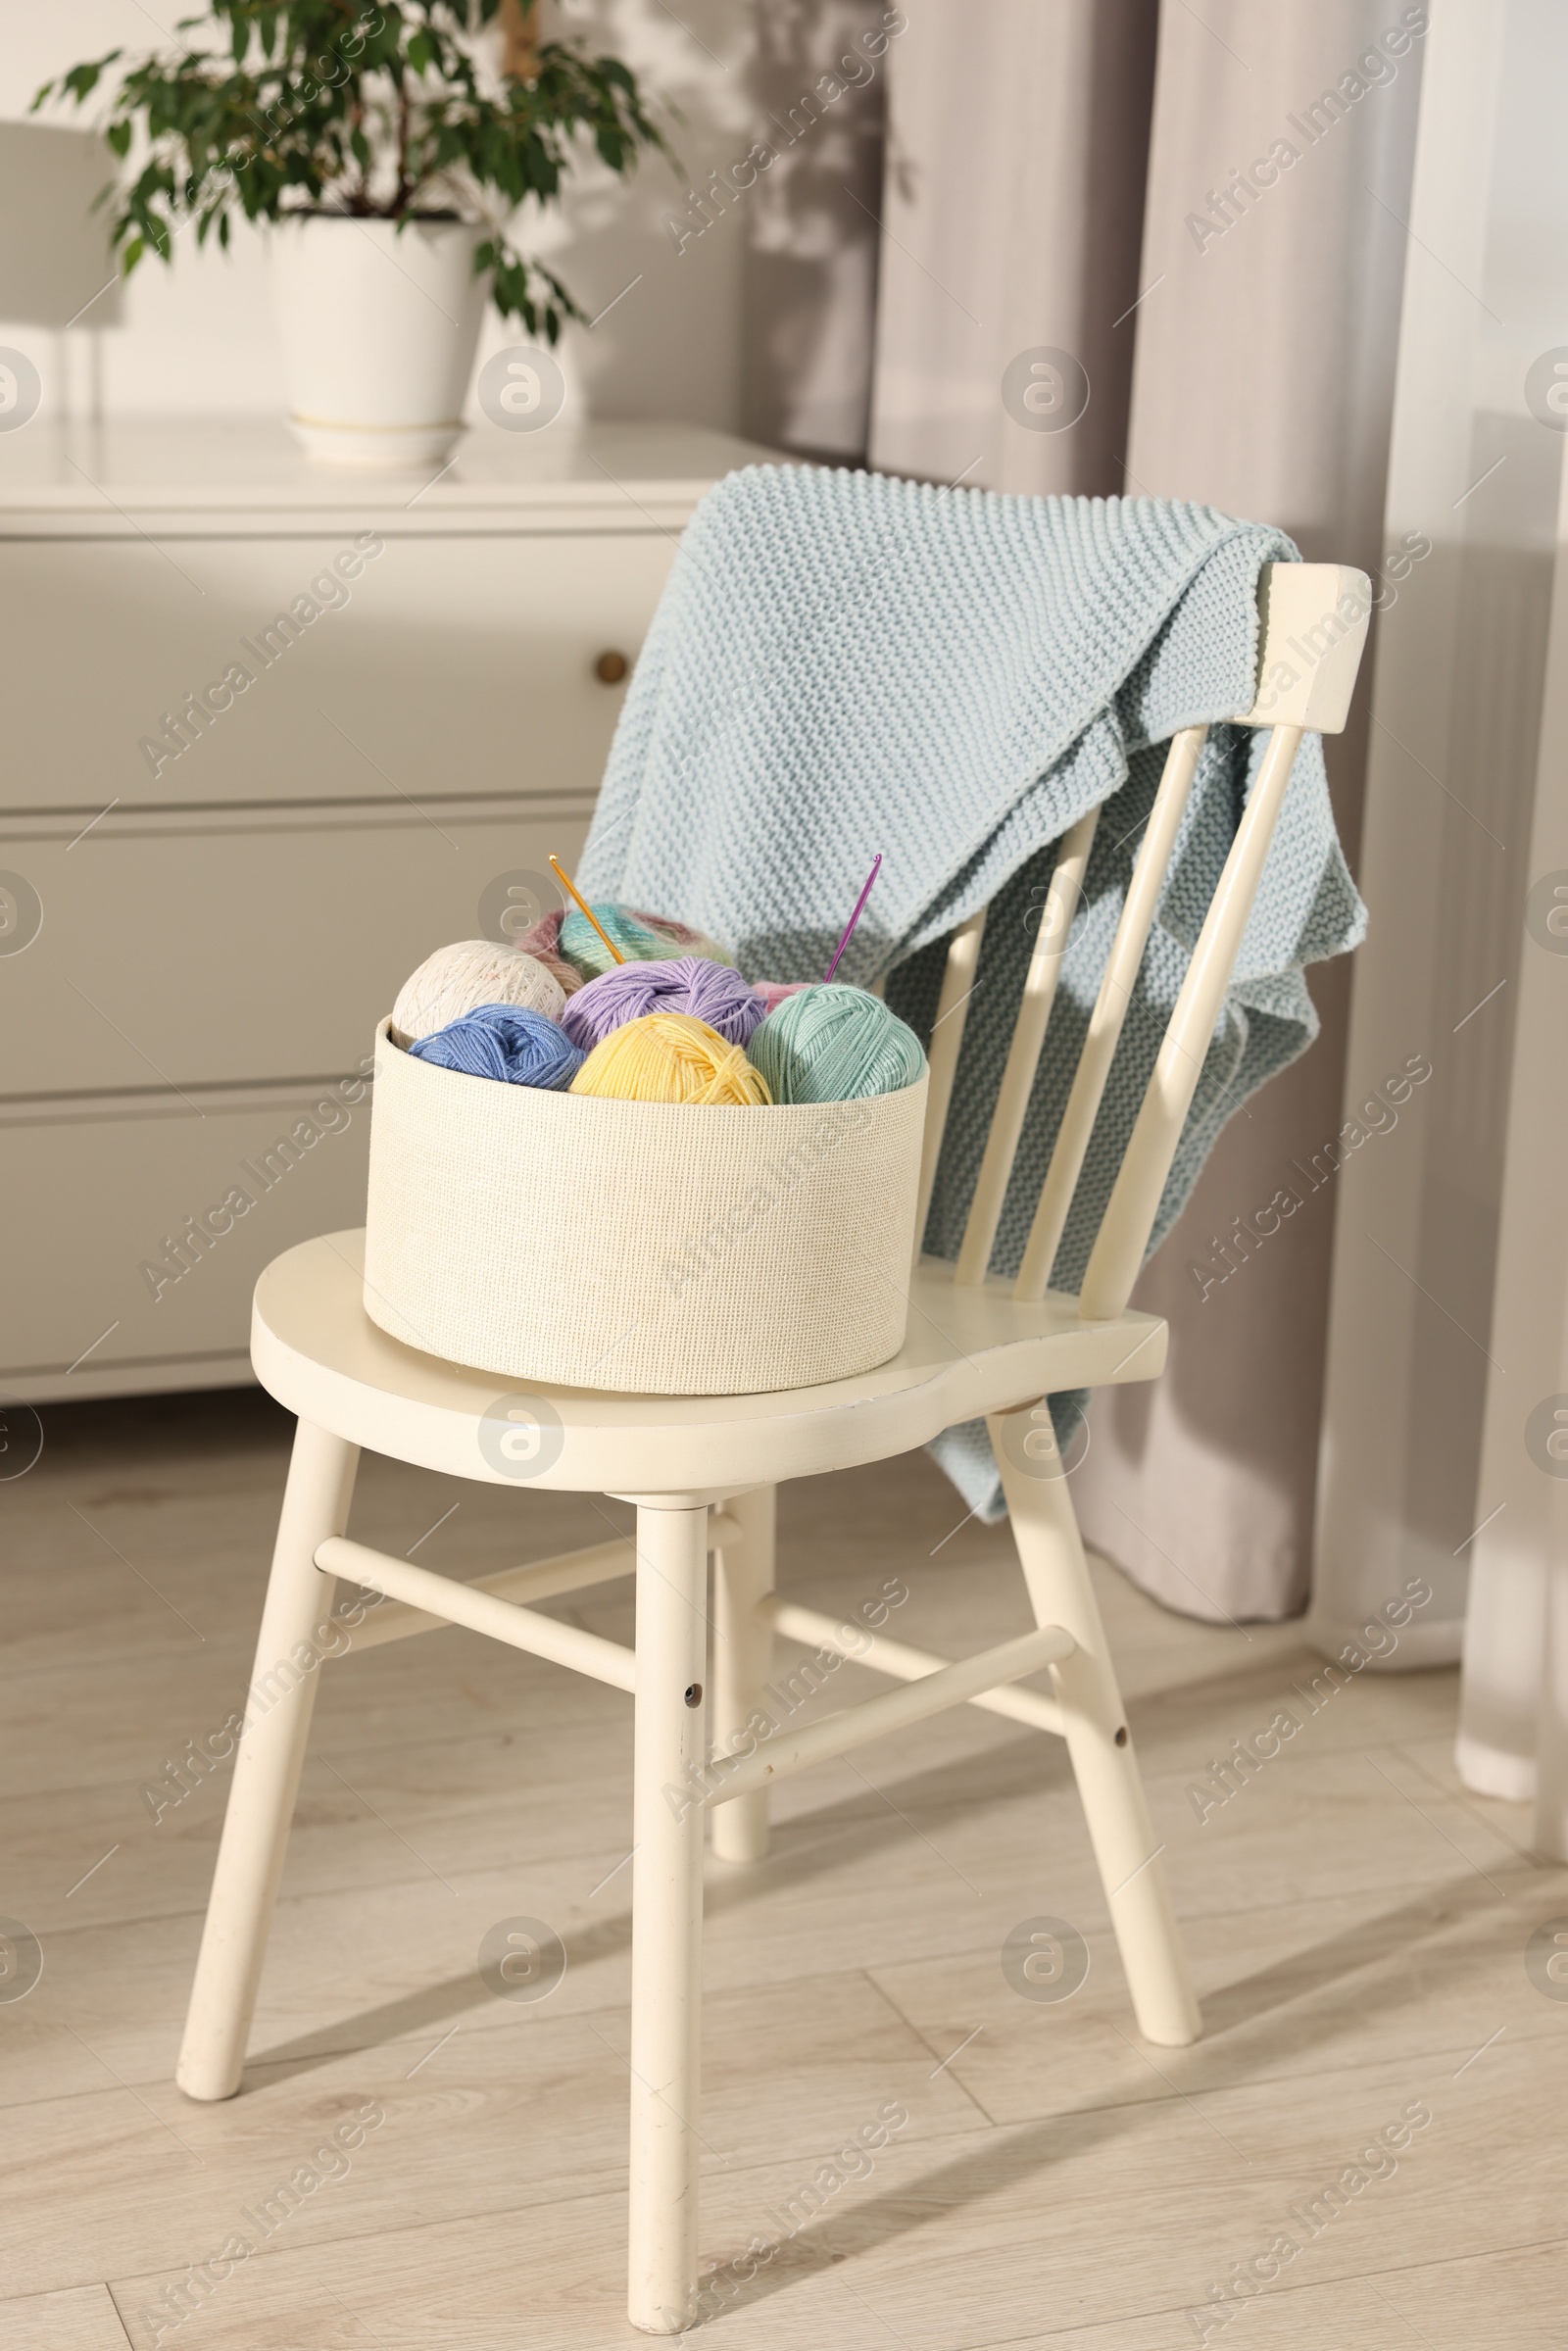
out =
[[(875, 1371), (757, 1396), (611, 1396), (508, 1382), (404, 1347), (364, 1312), (362, 1277), (364, 1232), (329, 1232), (275, 1258), (252, 1310), (256, 1378), (334, 1436), (494, 1486), (736, 1493), (886, 1460), (1053, 1389), (1152, 1380), (1166, 1361), (1154, 1314), (1084, 1324), (1077, 1298), (1018, 1305), (1004, 1284), (959, 1288), (952, 1265), (926, 1258), (905, 1345)], [(548, 1441), (522, 1465), (496, 1448), (505, 1401), (548, 1406)]]

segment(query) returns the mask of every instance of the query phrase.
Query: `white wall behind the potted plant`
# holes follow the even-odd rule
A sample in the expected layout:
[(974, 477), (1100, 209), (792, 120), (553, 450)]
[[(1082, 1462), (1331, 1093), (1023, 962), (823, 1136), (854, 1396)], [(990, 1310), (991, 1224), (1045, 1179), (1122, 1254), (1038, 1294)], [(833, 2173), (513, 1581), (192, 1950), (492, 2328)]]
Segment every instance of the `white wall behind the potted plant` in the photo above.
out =
[[(172, 268), (148, 259), (127, 287), (89, 301), (113, 270), (103, 228), (85, 209), (113, 165), (82, 129), (99, 106), (28, 115), (40, 82), (113, 47), (162, 47), (158, 24), (190, 12), (190, 0), (0, 0), (0, 343), (38, 364), (42, 414), (282, 407), (261, 235), (237, 221), (223, 256), (197, 252), (186, 233)], [(616, 49), (679, 108), (682, 122), (663, 120), (691, 181), (745, 153), (750, 7), (682, 0), (677, 24), (656, 0), (562, 0), (555, 19), (590, 47)], [(630, 287), (592, 334), (567, 336), (581, 414), (738, 426), (745, 228), (722, 221), (677, 254), (663, 221), (686, 183), (649, 158), (625, 188), (585, 155), (564, 219), (520, 216), (524, 249), (548, 254), (590, 315)], [(82, 303), (78, 324), (66, 324)], [(522, 339), (491, 315), (480, 357)]]

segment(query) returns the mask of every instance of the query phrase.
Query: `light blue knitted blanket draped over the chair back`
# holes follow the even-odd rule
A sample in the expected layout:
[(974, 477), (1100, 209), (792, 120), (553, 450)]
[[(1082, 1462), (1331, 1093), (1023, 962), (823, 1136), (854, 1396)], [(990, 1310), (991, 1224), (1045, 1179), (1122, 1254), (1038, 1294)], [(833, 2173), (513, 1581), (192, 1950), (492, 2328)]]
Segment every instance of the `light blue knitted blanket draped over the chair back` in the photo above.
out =
[[(839, 978), (886, 978), (929, 1039), (945, 938), (990, 905), (926, 1248), (954, 1258), (1053, 844), (1105, 802), (992, 1270), (1018, 1270), (1164, 743), (1253, 701), (1258, 569), (1295, 545), (1161, 498), (1011, 498), (748, 465), (698, 505), (649, 630), (581, 879), (722, 938), (748, 978), (813, 980), (882, 851)], [(1072, 1215), (1077, 1291), (1265, 736), (1215, 724)], [(1302, 964), (1366, 915), (1307, 736), (1154, 1241), (1225, 1119), (1316, 1034)], [(867, 1213), (875, 1213), (867, 1204)], [(1058, 1432), (1081, 1399), (1053, 1399)], [(983, 1422), (936, 1458), (1001, 1514)]]

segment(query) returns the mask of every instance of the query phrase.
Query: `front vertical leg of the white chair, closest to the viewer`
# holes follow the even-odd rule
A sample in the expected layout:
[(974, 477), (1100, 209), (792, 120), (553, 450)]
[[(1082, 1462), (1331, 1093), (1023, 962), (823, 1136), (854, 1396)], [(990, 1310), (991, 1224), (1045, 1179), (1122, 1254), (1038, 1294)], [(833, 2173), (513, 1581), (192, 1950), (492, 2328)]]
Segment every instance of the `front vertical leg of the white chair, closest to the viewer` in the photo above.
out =
[(632, 2161), (628, 2313), (696, 2306), (708, 1512), (637, 1507)]

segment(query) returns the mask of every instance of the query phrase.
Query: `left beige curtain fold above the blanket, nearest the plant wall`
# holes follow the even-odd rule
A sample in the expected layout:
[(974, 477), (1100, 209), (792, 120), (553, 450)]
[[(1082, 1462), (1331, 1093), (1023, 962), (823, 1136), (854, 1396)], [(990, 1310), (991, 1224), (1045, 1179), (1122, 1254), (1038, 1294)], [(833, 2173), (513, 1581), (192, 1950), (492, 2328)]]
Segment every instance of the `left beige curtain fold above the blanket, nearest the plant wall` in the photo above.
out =
[[(1121, 487), (1154, 24), (1157, 0), (910, 12), (889, 54), (870, 440), (884, 473)], [(1088, 376), (1077, 423), (1060, 428), (1067, 404), (1004, 407), (1030, 350)]]

